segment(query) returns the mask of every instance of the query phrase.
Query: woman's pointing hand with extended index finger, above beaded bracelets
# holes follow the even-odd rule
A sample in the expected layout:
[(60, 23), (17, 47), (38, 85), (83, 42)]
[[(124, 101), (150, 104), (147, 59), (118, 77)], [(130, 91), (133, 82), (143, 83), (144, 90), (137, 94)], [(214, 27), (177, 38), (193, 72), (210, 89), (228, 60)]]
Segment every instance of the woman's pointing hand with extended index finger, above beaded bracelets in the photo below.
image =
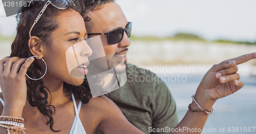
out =
[[(244, 86), (239, 81), (240, 75), (237, 73), (239, 64), (256, 58), (256, 52), (226, 60), (214, 65), (203, 77), (195, 98), (200, 99), (199, 104), (211, 106), (219, 99), (237, 92)], [(211, 107), (210, 106), (210, 107)], [(207, 109), (209, 106), (207, 106)]]

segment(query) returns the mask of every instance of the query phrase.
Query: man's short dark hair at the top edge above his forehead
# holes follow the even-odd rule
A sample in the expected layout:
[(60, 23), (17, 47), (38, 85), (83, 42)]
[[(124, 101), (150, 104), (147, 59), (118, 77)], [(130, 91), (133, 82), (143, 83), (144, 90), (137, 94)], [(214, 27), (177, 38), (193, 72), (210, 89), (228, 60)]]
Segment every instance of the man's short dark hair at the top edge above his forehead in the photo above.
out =
[(81, 4), (81, 16), (84, 21), (89, 21), (89, 11), (100, 10), (104, 4), (115, 2), (115, 0), (77, 0)]

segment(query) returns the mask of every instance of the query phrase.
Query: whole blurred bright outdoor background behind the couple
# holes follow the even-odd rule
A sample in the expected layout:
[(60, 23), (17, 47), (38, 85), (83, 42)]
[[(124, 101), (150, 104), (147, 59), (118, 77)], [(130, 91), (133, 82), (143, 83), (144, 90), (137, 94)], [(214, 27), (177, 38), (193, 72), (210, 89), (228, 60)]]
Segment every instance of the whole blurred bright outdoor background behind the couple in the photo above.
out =
[[(132, 22), (128, 63), (157, 73), (176, 100), (179, 119), (212, 65), (256, 52), (256, 1), (117, 0)], [(0, 3), (0, 59), (10, 55), (15, 15), (6, 17)], [(186, 68), (193, 70), (185, 71)], [(256, 127), (256, 61), (239, 65), (245, 87), (219, 99), (204, 128)], [(178, 81), (177, 76), (183, 76)], [(174, 79), (166, 79), (169, 76)], [(180, 78), (181, 78), (180, 77)], [(184, 81), (186, 79), (186, 81)], [(203, 132), (208, 133), (208, 132)], [(232, 132), (231, 132), (232, 133)]]

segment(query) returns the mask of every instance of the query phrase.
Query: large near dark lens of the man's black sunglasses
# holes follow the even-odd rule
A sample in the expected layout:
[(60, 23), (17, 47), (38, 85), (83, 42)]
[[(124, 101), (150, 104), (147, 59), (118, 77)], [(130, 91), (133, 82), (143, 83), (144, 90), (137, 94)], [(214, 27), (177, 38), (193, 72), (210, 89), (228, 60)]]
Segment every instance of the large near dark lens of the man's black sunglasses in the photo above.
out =
[(123, 37), (123, 29), (117, 29), (111, 33), (109, 33), (109, 44), (116, 44), (122, 40)]

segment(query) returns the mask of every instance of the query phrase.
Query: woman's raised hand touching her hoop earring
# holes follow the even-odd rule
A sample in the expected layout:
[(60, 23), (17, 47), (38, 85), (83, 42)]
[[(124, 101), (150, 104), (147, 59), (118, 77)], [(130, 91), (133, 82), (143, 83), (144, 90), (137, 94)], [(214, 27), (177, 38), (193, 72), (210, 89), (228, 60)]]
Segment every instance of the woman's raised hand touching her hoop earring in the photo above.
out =
[(23, 109), (25, 106), (27, 99), (26, 72), (34, 58), (25, 63), (26, 60), (27, 58), (5, 57), (0, 61), (0, 86), (5, 102), (4, 108)]

